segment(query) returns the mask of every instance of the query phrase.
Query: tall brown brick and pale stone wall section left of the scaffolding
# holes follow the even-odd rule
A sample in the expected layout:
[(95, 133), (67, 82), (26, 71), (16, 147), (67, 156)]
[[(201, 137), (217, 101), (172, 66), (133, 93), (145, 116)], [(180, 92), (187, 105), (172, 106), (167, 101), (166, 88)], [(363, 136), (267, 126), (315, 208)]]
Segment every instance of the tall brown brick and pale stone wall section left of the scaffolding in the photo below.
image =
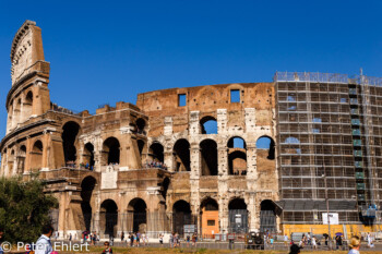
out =
[[(240, 102), (230, 101), (231, 89), (240, 92)], [(186, 95), (186, 106), (179, 106), (179, 95)], [(174, 189), (168, 196), (167, 210), (171, 210), (171, 205), (181, 197), (190, 201), (192, 211), (199, 216), (201, 202), (213, 197), (219, 204), (223, 230), (229, 225), (228, 204), (232, 198), (243, 198), (252, 218), (259, 217), (262, 199), (278, 199), (275, 160), (267, 160), (267, 155), (258, 153), (255, 146), (261, 136), (275, 140), (273, 84), (246, 83), (155, 90), (140, 94), (136, 105), (148, 117), (147, 147), (153, 143), (164, 146), (164, 161), (170, 171), (176, 171), (172, 159), (176, 142), (186, 138), (190, 143), (191, 171), (182, 172), (190, 177), (176, 179), (177, 186), (189, 186), (191, 190)], [(218, 134), (201, 133), (203, 118), (217, 121)], [(227, 142), (235, 136), (243, 138), (247, 145), (248, 172), (244, 177), (230, 176), (228, 172)], [(200, 144), (205, 140), (217, 144), (217, 176), (202, 176), (204, 160)], [(260, 176), (270, 179), (272, 184), (259, 181), (259, 169), (263, 165), (270, 166), (266, 167), (267, 170), (261, 170)], [(258, 219), (252, 219), (250, 227), (259, 228), (259, 222)]]

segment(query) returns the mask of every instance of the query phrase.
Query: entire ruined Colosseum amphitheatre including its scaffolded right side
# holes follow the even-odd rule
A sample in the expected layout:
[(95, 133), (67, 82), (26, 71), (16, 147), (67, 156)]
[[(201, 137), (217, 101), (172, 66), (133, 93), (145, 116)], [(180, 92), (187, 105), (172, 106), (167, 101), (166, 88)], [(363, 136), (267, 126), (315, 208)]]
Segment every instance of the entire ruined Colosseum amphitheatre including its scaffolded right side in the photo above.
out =
[(381, 222), (378, 78), (276, 73), (139, 94), (91, 114), (50, 101), (35, 22), (14, 36), (11, 63), (0, 174), (38, 172), (59, 201), (61, 237), (322, 233), (329, 210), (333, 230)]

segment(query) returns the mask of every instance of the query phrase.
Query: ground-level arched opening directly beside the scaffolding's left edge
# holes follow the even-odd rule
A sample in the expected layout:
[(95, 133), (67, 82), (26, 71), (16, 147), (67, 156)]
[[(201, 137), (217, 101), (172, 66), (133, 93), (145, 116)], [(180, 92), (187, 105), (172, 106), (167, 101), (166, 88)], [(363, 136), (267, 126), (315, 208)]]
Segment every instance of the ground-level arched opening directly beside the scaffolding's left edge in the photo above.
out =
[(260, 203), (260, 232), (276, 232), (276, 206), (273, 201)]

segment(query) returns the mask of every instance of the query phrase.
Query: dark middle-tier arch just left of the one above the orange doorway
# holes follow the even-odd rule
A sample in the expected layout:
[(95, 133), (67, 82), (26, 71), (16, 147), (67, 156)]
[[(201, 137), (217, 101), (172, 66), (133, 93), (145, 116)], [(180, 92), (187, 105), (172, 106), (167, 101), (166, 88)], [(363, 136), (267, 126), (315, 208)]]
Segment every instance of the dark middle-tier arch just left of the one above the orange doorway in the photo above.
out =
[(190, 162), (190, 143), (181, 138), (174, 145), (175, 171), (191, 171)]

